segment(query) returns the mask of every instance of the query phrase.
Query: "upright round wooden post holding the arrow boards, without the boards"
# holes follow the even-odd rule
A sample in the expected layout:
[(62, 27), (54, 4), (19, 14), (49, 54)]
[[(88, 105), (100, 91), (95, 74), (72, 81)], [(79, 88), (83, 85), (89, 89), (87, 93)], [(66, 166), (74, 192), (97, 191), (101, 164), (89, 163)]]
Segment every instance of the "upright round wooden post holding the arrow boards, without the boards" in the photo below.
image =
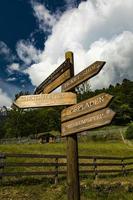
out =
[[(71, 64), (74, 66), (72, 52), (66, 52), (65, 58), (69, 58)], [(67, 137), (67, 185), (68, 200), (80, 200), (78, 142), (76, 134)]]

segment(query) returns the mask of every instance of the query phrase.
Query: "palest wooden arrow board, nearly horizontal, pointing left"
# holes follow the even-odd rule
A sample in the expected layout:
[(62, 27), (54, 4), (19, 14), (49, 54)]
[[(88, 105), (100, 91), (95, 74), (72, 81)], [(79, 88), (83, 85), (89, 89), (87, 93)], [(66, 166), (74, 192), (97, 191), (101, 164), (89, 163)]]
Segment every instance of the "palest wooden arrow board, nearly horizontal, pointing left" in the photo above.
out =
[(72, 92), (20, 96), (13, 104), (19, 108), (39, 108), (45, 106), (76, 104), (76, 94)]

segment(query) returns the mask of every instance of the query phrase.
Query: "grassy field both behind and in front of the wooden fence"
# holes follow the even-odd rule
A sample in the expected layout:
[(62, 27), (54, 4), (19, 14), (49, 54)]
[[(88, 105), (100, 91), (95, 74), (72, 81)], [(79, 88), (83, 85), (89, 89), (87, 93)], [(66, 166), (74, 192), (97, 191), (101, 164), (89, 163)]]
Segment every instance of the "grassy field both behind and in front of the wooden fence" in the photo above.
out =
[[(38, 153), (38, 154), (65, 154), (66, 143), (57, 144), (20, 144), (0, 145), (0, 152)], [(102, 156), (132, 156), (133, 147), (122, 141), (106, 142), (79, 142), (80, 155)], [(100, 176), (93, 180), (92, 176), (82, 177), (81, 200), (132, 200), (133, 176), (127, 177)], [(60, 180), (54, 185), (52, 179), (21, 178), (13, 181), (2, 181), (0, 199), (2, 200), (66, 200), (66, 180)]]

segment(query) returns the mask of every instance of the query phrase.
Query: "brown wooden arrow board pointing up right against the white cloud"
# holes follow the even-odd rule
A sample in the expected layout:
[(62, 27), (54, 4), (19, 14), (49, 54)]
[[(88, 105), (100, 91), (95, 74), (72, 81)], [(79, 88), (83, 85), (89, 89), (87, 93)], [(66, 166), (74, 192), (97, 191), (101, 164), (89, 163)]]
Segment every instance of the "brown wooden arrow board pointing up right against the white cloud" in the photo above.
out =
[(103, 68), (104, 65), (105, 65), (104, 61), (94, 62), (92, 65), (81, 71), (79, 74), (66, 81), (62, 85), (62, 91), (63, 92), (70, 91), (76, 86), (83, 83), (84, 81), (92, 78), (93, 76), (95, 76), (100, 72), (100, 70)]

